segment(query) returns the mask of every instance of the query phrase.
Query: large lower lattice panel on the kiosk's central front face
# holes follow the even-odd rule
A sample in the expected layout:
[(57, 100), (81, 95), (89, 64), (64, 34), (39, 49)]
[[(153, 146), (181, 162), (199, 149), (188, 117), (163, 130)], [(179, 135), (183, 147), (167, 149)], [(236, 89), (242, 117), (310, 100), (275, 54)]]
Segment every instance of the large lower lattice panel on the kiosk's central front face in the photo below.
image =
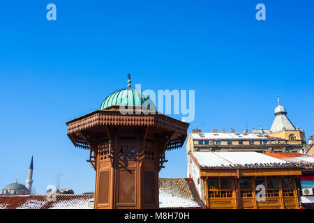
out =
[(135, 203), (135, 170), (118, 171), (118, 203)]

